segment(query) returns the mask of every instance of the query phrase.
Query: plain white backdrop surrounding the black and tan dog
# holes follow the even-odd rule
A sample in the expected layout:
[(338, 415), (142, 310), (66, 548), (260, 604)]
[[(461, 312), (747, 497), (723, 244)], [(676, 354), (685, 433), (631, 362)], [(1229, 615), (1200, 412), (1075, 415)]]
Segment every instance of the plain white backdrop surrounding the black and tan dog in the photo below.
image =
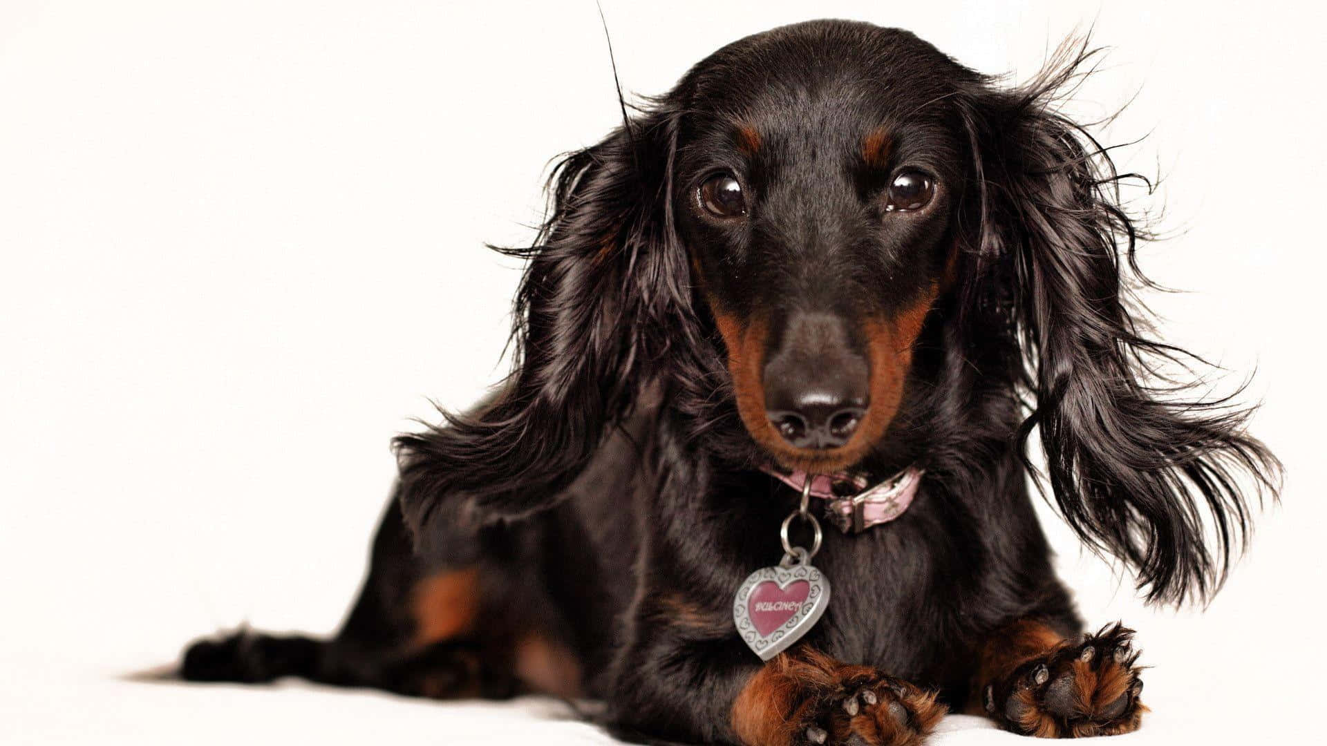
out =
[[(1143, 607), (1046, 515), (1087, 619), (1154, 666), (1133, 741), (1322, 738), (1319, 8), (605, 1), (640, 93), (817, 16), (1015, 78), (1095, 20), (1076, 110), (1137, 93), (1105, 139), (1148, 134), (1121, 159), (1165, 177), (1143, 261), (1193, 291), (1152, 297), (1166, 338), (1257, 366), (1289, 467), (1205, 613)], [(617, 122), (591, 1), (0, 5), (0, 742), (600, 739), (539, 702), (117, 676), (245, 620), (334, 628), (389, 438), (506, 370), (518, 271), (482, 243), (528, 240), (545, 163)]]

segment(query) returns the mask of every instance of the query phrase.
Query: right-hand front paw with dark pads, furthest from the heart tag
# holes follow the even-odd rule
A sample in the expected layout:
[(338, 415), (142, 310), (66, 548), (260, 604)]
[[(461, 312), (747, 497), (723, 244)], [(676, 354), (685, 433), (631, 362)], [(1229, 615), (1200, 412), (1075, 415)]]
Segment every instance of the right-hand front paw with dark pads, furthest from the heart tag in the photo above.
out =
[(1015, 733), (1042, 738), (1117, 735), (1139, 729), (1147, 708), (1133, 631), (1119, 624), (1064, 642), (986, 688), (986, 711)]

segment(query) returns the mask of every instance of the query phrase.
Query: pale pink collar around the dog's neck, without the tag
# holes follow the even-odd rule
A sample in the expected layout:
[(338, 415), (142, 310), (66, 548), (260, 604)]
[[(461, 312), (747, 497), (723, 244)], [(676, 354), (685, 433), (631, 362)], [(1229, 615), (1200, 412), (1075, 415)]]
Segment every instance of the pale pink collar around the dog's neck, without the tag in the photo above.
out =
[[(763, 470), (771, 477), (778, 477), (784, 485), (796, 491), (807, 483), (805, 471), (782, 474), (774, 469)], [(811, 494), (825, 500), (825, 518), (839, 527), (844, 534), (861, 534), (872, 526), (889, 523), (898, 518), (912, 504), (917, 496), (917, 487), (921, 485), (924, 470), (909, 466), (889, 479), (868, 487), (865, 477), (860, 474), (836, 473), (816, 474), (811, 477)], [(856, 494), (840, 495), (835, 492), (835, 485), (853, 490)]]

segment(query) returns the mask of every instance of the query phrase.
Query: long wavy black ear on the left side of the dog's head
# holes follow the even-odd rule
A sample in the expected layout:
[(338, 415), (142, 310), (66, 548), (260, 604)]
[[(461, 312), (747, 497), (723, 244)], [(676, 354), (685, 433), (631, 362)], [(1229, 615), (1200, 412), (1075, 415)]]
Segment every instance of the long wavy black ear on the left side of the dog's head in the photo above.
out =
[(678, 329), (689, 269), (673, 239), (665, 105), (565, 157), (515, 303), (515, 369), (492, 402), (395, 439), (406, 523), (545, 508), (620, 421)]

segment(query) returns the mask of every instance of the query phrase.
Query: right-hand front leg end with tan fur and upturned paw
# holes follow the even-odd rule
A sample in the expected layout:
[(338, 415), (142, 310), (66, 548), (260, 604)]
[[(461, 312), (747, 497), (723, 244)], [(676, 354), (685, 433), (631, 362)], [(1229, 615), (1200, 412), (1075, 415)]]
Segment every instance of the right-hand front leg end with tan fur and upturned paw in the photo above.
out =
[(1014, 623), (983, 645), (969, 710), (1043, 738), (1137, 730), (1147, 708), (1132, 641), (1119, 624), (1064, 638), (1039, 621)]

